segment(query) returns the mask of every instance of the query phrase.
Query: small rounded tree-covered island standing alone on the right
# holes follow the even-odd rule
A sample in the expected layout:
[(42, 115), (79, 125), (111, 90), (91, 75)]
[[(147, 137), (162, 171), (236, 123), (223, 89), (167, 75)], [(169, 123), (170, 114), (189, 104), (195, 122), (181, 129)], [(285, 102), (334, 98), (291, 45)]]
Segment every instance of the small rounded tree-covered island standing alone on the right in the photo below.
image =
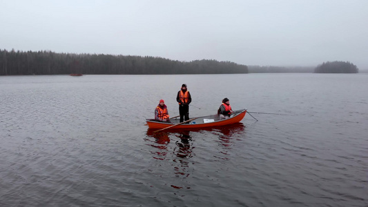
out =
[(327, 61), (314, 69), (317, 73), (358, 73), (359, 69), (350, 62)]

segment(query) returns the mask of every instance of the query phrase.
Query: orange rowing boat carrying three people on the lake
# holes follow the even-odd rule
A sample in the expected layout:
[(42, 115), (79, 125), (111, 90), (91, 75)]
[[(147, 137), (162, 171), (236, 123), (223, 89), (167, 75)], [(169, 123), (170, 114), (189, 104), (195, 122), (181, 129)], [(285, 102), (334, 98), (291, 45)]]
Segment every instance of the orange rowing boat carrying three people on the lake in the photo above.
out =
[(208, 115), (204, 117), (195, 117), (192, 119), (189, 119), (191, 121), (188, 121), (185, 124), (180, 124), (180, 119), (170, 119), (171, 122), (161, 122), (156, 121), (155, 119), (146, 119), (148, 128), (206, 128), (206, 127), (215, 127), (215, 126), (225, 126), (229, 124), (235, 124), (244, 118), (246, 114), (246, 109), (242, 110), (235, 110), (233, 115), (229, 119), (222, 119), (220, 120), (220, 117), (218, 115)]

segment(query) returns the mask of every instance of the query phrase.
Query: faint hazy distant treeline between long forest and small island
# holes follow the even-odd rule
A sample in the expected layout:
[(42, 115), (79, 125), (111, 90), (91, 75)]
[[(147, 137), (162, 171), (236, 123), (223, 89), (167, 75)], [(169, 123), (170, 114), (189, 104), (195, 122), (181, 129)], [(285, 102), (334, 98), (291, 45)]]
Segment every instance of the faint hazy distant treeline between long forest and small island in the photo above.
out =
[(313, 72), (314, 67), (248, 66), (249, 73), (269, 72)]

